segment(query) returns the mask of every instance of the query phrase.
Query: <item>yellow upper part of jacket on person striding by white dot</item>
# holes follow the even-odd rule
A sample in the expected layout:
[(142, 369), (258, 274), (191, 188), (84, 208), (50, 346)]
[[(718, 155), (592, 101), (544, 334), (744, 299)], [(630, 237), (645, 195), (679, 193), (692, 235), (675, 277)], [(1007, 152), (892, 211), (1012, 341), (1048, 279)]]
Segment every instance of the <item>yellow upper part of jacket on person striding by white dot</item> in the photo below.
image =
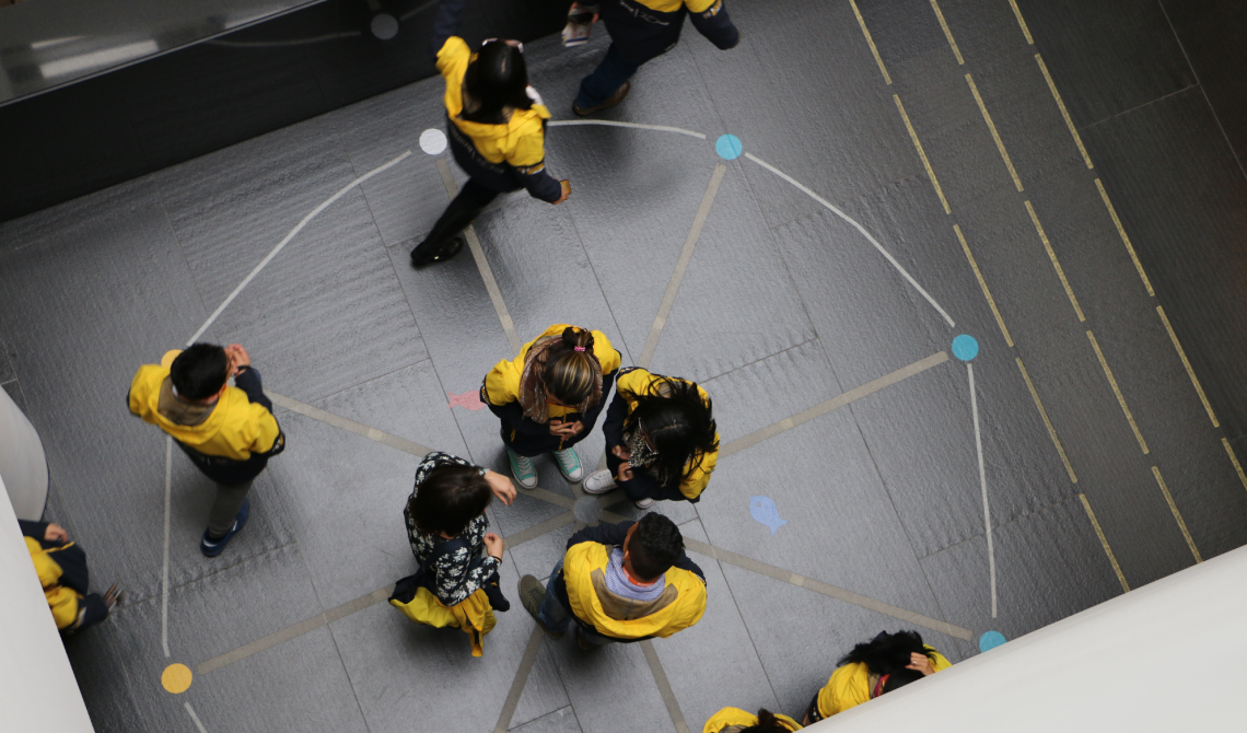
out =
[[(476, 152), (491, 163), (508, 162), (516, 168), (544, 165), (545, 130), (542, 120), (550, 118), (545, 105), (534, 103), (530, 110), (515, 110), (506, 125), (485, 125), (460, 120), (464, 110), (463, 82), (473, 52), (463, 39), (451, 36), (438, 51), (438, 71), (446, 80), (446, 113), (464, 135), (471, 138)], [(537, 171), (524, 171), (535, 173)]]

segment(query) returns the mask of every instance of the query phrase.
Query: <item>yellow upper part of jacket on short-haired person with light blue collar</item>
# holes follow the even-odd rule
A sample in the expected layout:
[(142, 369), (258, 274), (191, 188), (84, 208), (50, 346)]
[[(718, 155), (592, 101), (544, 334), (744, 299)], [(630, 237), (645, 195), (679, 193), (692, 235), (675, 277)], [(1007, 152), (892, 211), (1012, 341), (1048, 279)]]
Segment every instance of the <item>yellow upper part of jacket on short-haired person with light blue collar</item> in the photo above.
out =
[[(567, 600), (576, 618), (591, 623), (599, 633), (620, 640), (667, 638), (701, 621), (706, 612), (706, 583), (696, 573), (672, 567), (666, 573), (666, 590), (647, 605), (643, 616), (609, 616), (599, 592), (606, 591), (606, 566), (610, 547), (601, 542), (574, 545), (562, 560)], [(651, 610), (652, 608), (652, 610)]]

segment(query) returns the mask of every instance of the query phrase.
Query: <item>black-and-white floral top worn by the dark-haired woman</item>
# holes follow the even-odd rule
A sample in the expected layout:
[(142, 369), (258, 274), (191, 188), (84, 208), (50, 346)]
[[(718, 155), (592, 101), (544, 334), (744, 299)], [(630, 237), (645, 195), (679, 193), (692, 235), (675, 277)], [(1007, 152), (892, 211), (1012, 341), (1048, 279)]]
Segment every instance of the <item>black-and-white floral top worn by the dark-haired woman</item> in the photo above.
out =
[[(415, 496), (420, 491), (420, 484), (424, 482), (424, 479), (433, 469), (446, 464), (471, 466), (480, 471), (481, 476), (485, 475), (485, 469), (470, 461), (465, 461), (449, 453), (434, 451), (424, 456), (424, 460), (415, 469), (415, 487), (412, 489), (412, 496)], [(484, 586), (490, 576), (498, 572), (498, 558), (488, 555), (481, 557), (485, 547), (485, 530), (489, 529), (489, 520), (485, 519), (485, 515), (480, 515), (468, 522), (468, 529), (458, 537), (466, 542), (466, 547), (460, 547), (449, 553), (436, 553), (435, 550), (440, 545), (450, 542), (450, 540), (436, 535), (421, 534), (415, 527), (415, 520), (405, 506), (403, 507), (403, 519), (407, 521), (407, 539), (412, 544), (412, 553), (415, 555), (415, 561), (424, 565), (429, 557), (436, 555), (433, 565), (425, 567), (424, 572), (425, 577), (431, 580), (430, 590), (446, 606), (461, 603), (468, 596), (476, 592), (476, 588)]]

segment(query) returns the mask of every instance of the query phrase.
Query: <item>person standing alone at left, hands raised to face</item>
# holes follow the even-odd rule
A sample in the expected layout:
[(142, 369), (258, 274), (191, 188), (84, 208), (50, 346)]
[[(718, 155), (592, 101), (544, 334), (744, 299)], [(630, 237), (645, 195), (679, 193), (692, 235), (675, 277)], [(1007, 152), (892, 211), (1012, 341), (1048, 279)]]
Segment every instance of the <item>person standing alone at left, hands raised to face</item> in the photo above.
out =
[[(236, 386), (229, 386), (233, 378)], [(238, 344), (192, 344), (138, 368), (130, 411), (167, 433), (217, 485), (200, 551), (216, 557), (247, 524), (247, 492), (268, 459), (286, 449), (259, 371)]]

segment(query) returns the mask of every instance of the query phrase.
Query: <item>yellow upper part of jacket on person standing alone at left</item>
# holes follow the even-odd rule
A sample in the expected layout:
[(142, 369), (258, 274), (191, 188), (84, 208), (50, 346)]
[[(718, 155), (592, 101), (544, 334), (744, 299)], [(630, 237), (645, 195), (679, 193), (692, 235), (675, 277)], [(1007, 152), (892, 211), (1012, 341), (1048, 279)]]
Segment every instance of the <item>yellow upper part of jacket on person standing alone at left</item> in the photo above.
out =
[[(130, 383), (130, 411), (145, 421), (158, 426), (182, 445), (196, 453), (244, 461), (253, 453), (264, 454), (282, 434), (277, 419), (264, 405), (252, 403), (247, 393), (237, 386), (227, 386), (208, 416), (198, 425), (178, 425), (161, 414), (162, 391), (168, 379), (173, 359), (181, 354), (172, 350), (161, 358), (160, 365), (145, 364)], [(170, 395), (165, 394), (168, 400)]]

